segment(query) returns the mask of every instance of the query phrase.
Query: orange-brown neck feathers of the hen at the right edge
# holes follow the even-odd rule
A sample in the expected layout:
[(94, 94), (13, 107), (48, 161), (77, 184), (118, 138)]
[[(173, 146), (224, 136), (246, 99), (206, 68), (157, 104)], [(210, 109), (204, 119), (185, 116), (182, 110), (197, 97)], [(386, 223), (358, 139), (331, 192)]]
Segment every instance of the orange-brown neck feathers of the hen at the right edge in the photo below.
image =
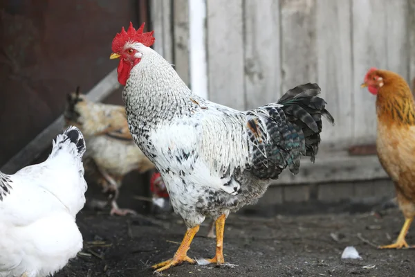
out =
[(415, 125), (414, 97), (405, 80), (394, 80), (379, 89), (376, 98), (378, 120), (394, 126)]

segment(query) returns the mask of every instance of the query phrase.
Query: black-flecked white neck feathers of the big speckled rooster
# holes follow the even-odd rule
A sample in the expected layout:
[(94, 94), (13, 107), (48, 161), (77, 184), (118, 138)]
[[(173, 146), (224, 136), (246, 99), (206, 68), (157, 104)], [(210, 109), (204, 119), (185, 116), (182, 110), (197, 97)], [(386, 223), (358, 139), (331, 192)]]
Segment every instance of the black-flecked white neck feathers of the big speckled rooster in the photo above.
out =
[(190, 96), (194, 95), (172, 65), (153, 50), (131, 69), (122, 91), (127, 114), (149, 124), (190, 112)]

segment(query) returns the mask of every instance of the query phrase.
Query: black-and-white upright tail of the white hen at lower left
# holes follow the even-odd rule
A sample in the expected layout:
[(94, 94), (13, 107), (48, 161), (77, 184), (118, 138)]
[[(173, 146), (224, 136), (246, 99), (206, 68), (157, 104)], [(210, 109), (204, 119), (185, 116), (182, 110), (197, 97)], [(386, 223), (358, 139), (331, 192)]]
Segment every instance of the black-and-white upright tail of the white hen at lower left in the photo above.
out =
[(52, 152), (48, 159), (56, 157), (61, 151), (71, 154), (78, 161), (82, 161), (86, 146), (84, 135), (80, 129), (69, 126), (63, 134), (58, 134), (56, 141), (53, 141)]

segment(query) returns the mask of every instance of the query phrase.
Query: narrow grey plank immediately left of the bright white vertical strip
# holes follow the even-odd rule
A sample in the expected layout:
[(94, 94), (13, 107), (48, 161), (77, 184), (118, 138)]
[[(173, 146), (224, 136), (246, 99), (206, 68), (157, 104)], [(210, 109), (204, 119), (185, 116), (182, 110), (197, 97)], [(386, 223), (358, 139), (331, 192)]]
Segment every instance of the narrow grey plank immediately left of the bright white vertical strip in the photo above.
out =
[(189, 1), (174, 0), (174, 69), (183, 82), (190, 84)]

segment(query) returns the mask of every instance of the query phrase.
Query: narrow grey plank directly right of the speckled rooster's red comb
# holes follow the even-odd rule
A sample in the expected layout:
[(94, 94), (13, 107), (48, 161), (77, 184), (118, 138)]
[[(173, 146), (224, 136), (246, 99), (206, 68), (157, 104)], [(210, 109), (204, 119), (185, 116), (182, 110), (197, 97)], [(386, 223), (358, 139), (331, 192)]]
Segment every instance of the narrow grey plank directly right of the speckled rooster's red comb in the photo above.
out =
[(154, 50), (173, 63), (172, 0), (150, 1)]

